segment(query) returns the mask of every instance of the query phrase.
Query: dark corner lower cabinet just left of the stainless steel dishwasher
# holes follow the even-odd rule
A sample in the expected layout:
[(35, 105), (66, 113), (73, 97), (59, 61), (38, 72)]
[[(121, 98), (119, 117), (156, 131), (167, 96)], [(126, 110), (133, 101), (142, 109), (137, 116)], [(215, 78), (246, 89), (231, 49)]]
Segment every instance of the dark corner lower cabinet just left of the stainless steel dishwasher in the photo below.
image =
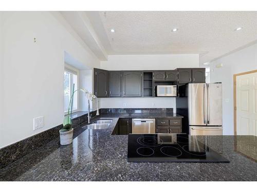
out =
[(132, 133), (131, 118), (120, 118), (112, 135), (128, 135)]

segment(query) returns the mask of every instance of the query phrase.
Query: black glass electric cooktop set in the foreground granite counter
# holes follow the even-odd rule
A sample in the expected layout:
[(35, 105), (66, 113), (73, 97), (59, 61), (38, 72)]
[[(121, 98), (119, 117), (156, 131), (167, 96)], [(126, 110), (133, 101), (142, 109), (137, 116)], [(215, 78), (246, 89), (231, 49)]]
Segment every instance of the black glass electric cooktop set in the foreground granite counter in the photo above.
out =
[(128, 162), (224, 162), (196, 136), (185, 134), (130, 134), (127, 148)]

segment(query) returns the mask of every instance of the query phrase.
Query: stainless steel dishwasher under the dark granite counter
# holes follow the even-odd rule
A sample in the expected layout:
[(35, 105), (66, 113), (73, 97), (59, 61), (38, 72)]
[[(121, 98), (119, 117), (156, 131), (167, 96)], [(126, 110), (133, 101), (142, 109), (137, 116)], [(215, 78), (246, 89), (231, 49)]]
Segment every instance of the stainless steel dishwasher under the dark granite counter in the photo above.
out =
[(132, 133), (155, 133), (155, 119), (132, 119)]

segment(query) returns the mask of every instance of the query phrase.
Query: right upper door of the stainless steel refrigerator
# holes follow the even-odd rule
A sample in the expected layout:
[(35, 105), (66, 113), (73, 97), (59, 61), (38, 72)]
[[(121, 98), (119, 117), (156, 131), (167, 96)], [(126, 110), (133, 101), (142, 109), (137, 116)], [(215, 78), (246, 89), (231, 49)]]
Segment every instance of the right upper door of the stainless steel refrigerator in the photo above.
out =
[(222, 125), (222, 83), (207, 83), (207, 125)]

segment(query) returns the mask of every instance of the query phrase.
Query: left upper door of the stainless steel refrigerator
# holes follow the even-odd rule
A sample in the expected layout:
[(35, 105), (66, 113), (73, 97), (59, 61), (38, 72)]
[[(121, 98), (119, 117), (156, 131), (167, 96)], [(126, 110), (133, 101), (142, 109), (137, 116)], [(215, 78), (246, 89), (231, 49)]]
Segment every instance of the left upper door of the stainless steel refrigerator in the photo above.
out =
[(207, 88), (206, 83), (188, 84), (188, 118), (189, 125), (206, 125), (207, 123)]

